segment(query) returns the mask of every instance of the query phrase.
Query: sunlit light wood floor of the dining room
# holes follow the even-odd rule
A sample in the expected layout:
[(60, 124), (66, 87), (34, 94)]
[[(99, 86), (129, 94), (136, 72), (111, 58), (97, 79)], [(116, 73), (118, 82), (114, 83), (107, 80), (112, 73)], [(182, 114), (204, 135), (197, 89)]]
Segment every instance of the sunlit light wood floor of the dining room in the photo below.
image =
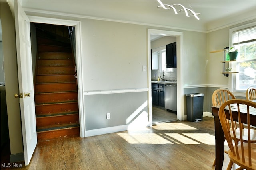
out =
[[(214, 119), (172, 121), (93, 137), (38, 142), (22, 170), (212, 170)], [(224, 155), (224, 168), (228, 156)], [(3, 162), (1, 162), (3, 163)], [(4, 169), (3, 167), (1, 169)]]

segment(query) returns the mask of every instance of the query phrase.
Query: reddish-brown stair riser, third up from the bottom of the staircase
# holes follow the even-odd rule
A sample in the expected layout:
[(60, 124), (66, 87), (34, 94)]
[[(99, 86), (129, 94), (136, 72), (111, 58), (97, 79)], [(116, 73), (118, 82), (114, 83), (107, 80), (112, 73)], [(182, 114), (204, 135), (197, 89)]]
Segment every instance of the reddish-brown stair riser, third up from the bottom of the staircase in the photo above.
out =
[(48, 115), (68, 111), (78, 111), (78, 103), (61, 103), (50, 105), (36, 105), (36, 115)]

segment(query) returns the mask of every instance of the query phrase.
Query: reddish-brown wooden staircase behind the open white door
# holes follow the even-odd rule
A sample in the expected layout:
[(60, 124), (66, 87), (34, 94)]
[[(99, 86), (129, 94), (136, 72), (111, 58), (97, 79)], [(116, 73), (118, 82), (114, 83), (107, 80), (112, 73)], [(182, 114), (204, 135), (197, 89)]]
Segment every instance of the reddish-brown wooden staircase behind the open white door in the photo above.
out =
[(37, 29), (36, 35), (38, 141), (79, 136), (78, 92), (70, 40), (42, 29)]

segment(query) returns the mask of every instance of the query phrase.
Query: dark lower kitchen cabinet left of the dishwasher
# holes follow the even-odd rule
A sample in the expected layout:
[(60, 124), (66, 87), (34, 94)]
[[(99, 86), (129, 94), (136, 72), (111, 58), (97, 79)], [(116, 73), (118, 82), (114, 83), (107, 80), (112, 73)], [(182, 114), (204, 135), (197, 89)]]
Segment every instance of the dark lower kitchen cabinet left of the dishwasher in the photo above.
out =
[(152, 83), (152, 104), (164, 107), (164, 84)]

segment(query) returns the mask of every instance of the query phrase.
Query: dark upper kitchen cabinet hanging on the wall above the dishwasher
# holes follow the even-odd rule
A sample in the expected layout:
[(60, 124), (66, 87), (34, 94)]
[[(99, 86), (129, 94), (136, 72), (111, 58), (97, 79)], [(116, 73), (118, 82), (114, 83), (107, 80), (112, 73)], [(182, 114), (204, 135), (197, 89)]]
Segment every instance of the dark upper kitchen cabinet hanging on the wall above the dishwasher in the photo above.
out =
[(166, 45), (166, 68), (177, 68), (177, 43)]

